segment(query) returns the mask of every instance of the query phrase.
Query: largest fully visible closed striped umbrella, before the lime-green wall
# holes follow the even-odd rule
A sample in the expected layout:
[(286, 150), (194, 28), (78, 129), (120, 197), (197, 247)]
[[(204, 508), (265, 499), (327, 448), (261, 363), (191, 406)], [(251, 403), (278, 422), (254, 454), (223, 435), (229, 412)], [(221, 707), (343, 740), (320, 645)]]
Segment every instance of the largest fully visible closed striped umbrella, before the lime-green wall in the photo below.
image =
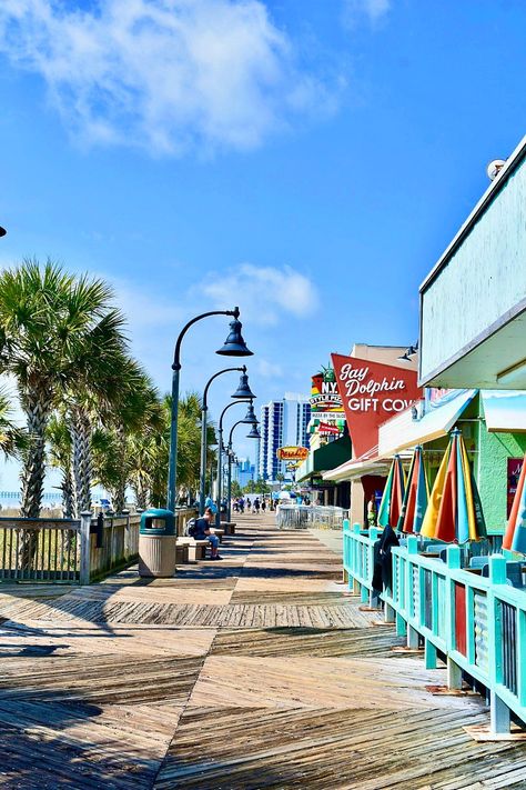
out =
[(465, 543), (486, 537), (481, 498), (458, 429), (451, 433), (449, 446), (431, 492), (421, 534), (447, 543)]

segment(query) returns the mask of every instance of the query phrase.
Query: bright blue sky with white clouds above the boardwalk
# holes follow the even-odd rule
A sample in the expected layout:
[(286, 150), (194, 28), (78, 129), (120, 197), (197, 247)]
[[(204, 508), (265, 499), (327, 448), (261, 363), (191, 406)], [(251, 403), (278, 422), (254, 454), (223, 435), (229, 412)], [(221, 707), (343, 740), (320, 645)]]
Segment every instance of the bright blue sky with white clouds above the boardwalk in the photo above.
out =
[[(181, 323), (239, 303), (260, 402), (307, 392), (331, 351), (415, 340), (524, 133), (525, 33), (522, 0), (3, 0), (0, 263), (112, 280), (163, 390)], [(189, 337), (183, 389), (225, 330)]]

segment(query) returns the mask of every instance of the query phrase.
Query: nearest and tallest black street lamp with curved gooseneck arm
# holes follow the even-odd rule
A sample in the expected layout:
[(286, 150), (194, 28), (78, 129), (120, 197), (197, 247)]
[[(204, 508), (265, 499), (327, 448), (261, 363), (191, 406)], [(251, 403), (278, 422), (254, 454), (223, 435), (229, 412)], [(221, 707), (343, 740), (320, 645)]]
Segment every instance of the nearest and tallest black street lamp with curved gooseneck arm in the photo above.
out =
[(246, 343), (241, 334), (240, 309), (235, 307), (233, 310), (211, 310), (203, 312), (201, 316), (192, 318), (181, 330), (181, 333), (175, 343), (172, 363), (172, 413), (170, 424), (170, 459), (168, 470), (168, 497), (166, 508), (172, 512), (175, 511), (175, 501), (178, 496), (178, 423), (179, 423), (179, 377), (181, 371), (181, 343), (190, 327), (203, 318), (210, 316), (233, 316), (233, 321), (230, 322), (229, 337), (224, 341), (216, 353), (223, 357), (251, 357), (252, 351), (249, 351)]

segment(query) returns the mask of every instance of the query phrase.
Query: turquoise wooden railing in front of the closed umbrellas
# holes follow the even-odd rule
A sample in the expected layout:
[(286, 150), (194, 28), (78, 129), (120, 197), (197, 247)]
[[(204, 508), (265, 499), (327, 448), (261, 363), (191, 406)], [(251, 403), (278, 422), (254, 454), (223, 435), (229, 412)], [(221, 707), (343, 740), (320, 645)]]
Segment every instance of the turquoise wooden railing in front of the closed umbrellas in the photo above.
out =
[[(377, 536), (360, 524), (344, 528), (344, 569), (364, 602), (374, 597)], [(392, 588), (381, 594), (386, 621), (408, 647), (423, 642), (428, 669), (441, 654), (451, 689), (462, 688), (463, 674), (487, 689), (492, 732), (509, 732), (510, 712), (526, 724), (526, 591), (507, 583), (506, 558), (492, 554), (485, 578), (461, 568), (458, 546), (447, 547), (445, 562), (419, 548), (409, 537), (392, 549)]]

